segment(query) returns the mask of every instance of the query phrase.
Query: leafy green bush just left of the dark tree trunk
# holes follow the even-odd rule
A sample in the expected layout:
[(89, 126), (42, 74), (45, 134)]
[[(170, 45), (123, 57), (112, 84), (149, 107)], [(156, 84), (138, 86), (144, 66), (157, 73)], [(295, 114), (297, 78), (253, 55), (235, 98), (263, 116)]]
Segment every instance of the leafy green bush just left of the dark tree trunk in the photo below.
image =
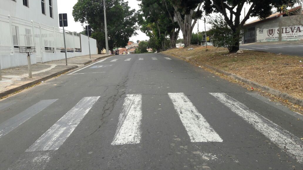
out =
[(238, 43), (242, 38), (240, 29), (234, 33), (221, 16), (211, 17), (208, 23), (211, 24), (209, 34), (212, 35), (212, 44), (214, 47), (226, 47), (231, 51), (235, 43)]

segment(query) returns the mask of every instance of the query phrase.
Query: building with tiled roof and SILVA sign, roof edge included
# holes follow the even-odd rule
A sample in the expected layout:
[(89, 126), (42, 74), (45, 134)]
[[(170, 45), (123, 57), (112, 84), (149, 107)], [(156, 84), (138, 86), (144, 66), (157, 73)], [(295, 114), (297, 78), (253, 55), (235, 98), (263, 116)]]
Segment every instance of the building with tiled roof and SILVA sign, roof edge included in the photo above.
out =
[(302, 25), (301, 6), (290, 9), (288, 14), (275, 13), (245, 24), (242, 43), (303, 40)]

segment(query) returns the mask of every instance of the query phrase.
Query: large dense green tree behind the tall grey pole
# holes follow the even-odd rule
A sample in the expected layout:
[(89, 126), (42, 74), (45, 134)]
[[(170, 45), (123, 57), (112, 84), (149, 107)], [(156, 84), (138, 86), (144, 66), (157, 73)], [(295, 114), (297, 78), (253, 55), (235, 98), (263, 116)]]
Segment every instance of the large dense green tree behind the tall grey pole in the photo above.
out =
[[(137, 34), (138, 15), (123, 0), (105, 0), (105, 4), (108, 48), (113, 53), (114, 47), (125, 47), (129, 37)], [(101, 53), (105, 48), (103, 0), (78, 0), (72, 14), (76, 22), (91, 25), (92, 37), (97, 40), (98, 53)]]

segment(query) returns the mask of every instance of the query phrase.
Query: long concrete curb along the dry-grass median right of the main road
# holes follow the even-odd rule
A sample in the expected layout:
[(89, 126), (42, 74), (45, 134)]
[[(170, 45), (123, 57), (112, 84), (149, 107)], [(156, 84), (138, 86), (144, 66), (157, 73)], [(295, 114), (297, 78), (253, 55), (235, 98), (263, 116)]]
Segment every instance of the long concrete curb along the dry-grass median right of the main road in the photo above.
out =
[[(178, 57), (180, 57), (181, 59), (185, 59), (185, 60), (187, 60), (187, 61), (194, 62), (193, 59), (190, 59), (189, 57), (187, 57), (187, 58), (186, 58), (186, 57), (183, 57), (183, 56), (178, 56)], [(196, 62), (194, 62), (194, 63), (196, 63)], [(213, 71), (215, 71), (215, 72), (218, 72), (218, 73), (227, 75), (228, 77), (231, 77), (231, 78), (233, 78), (233, 79), (236, 79), (236, 80), (238, 80), (238, 81), (241, 81), (241, 82), (243, 82), (243, 83), (245, 83), (245, 84), (247, 84), (247, 85), (250, 85), (251, 87), (258, 88), (258, 89), (260, 89), (260, 90), (262, 90), (262, 91), (265, 91), (265, 92), (267, 92), (267, 93), (270, 93), (270, 94), (272, 94), (272, 95), (275, 95), (276, 97), (282, 98), (282, 99), (284, 99), (284, 100), (287, 100), (287, 101), (289, 101), (289, 102), (291, 102), (291, 103), (293, 103), (293, 104), (298, 104), (299, 106), (303, 106), (303, 100), (302, 100), (302, 99), (293, 97), (293, 96), (291, 96), (291, 95), (289, 95), (289, 94), (287, 94), (287, 93), (283, 93), (283, 92), (281, 92), (281, 91), (279, 91), (279, 90), (270, 88), (270, 87), (268, 87), (268, 86), (260, 85), (260, 84), (257, 83), (257, 82), (250, 81), (250, 80), (248, 80), (248, 79), (245, 79), (245, 78), (242, 78), (242, 77), (240, 77), (240, 76), (238, 76), (238, 75), (232, 74), (232, 73), (230, 73), (230, 72), (226, 72), (226, 71), (224, 71), (224, 70), (215, 68), (215, 67), (213, 67), (213, 66), (209, 66), (209, 65), (206, 65), (206, 64), (203, 64), (203, 63), (196, 63), (196, 64), (201, 65), (201, 66), (204, 66), (204, 67), (206, 67), (206, 68), (208, 68), (208, 69), (211, 69), (211, 70), (213, 70)]]

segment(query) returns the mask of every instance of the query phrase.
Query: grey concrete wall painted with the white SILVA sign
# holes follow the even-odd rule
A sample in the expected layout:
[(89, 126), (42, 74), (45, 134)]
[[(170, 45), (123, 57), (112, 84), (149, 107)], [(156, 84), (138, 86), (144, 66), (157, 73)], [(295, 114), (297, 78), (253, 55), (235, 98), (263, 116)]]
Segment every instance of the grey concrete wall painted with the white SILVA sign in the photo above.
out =
[(260, 21), (245, 26), (255, 26), (255, 37), (257, 42), (289, 41), (303, 39), (303, 16), (285, 16)]

